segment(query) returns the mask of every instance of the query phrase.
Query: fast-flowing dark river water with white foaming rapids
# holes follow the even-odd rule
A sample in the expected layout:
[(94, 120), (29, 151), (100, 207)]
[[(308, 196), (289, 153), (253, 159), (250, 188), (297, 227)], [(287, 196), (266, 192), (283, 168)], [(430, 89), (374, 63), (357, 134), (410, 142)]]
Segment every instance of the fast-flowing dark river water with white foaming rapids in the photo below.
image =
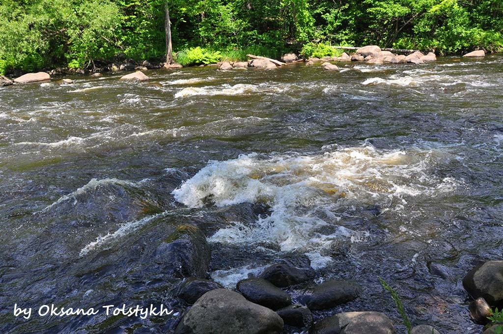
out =
[[(480, 333), (461, 280), (503, 253), (503, 57), (121, 74), (0, 88), (0, 331), (163, 333), (183, 314), (154, 250), (199, 226), (228, 288), (281, 261), (386, 312)], [(298, 291), (290, 291), (294, 299)], [(164, 317), (13, 315), (164, 305)]]

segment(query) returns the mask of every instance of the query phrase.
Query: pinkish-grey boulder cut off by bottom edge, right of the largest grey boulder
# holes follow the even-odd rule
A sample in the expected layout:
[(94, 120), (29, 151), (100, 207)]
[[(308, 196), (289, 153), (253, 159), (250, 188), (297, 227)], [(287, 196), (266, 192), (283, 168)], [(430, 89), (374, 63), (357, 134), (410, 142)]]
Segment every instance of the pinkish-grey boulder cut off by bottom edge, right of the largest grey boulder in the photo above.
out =
[(391, 320), (380, 312), (346, 312), (324, 318), (309, 334), (395, 334)]

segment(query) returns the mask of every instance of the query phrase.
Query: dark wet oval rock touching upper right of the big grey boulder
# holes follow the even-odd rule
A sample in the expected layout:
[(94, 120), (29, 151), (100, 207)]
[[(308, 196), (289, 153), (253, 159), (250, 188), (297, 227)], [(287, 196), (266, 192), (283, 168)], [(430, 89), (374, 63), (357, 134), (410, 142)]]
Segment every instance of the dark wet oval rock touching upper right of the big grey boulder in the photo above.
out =
[(237, 282), (236, 289), (249, 301), (277, 310), (292, 303), (285, 291), (262, 278), (248, 278)]

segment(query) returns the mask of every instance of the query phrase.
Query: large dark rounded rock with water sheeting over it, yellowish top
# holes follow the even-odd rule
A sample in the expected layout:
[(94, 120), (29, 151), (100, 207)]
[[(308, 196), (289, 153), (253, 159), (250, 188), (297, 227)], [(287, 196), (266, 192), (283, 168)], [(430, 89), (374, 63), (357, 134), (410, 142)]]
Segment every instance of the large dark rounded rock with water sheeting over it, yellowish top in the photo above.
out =
[(155, 250), (155, 262), (172, 277), (204, 278), (211, 250), (203, 232), (193, 225), (181, 225)]

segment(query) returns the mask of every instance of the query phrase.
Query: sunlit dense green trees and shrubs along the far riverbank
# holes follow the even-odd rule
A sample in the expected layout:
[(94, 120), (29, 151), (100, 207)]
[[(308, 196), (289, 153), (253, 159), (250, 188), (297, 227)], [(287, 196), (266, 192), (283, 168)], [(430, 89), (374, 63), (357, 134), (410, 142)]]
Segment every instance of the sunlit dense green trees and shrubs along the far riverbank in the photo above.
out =
[(503, 49), (503, 0), (2, 0), (0, 73), (159, 62), (165, 6), (184, 65), (246, 53), (333, 55), (330, 45)]

